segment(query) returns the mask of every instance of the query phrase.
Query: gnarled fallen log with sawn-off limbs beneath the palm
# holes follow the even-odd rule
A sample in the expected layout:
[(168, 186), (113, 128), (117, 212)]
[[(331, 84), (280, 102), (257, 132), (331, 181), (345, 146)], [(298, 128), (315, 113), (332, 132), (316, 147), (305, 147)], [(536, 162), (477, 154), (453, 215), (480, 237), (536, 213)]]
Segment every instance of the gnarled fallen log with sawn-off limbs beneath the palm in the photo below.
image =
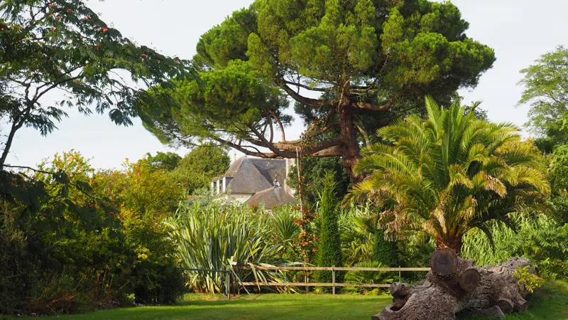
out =
[[(393, 304), (372, 320), (455, 320), (461, 316), (496, 316), (527, 309), (528, 292), (521, 291), (513, 272), (530, 265), (514, 257), (499, 265), (476, 267), (453, 250), (438, 249), (430, 257), (424, 284), (391, 284)], [(536, 274), (534, 267), (529, 272)]]

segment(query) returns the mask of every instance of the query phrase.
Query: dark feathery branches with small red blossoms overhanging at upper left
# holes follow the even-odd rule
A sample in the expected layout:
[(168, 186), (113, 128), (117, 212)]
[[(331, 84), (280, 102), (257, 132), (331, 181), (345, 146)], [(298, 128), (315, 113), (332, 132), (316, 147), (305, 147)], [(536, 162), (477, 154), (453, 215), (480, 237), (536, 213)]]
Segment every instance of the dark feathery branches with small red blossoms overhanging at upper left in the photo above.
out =
[[(113, 122), (128, 125), (133, 102), (148, 96), (141, 85), (163, 85), (186, 72), (187, 62), (124, 38), (83, 1), (2, 1), (0, 117), (9, 134), (0, 169), (21, 127), (48, 134), (67, 116), (64, 107), (109, 110)], [(53, 91), (64, 98), (50, 102)]]

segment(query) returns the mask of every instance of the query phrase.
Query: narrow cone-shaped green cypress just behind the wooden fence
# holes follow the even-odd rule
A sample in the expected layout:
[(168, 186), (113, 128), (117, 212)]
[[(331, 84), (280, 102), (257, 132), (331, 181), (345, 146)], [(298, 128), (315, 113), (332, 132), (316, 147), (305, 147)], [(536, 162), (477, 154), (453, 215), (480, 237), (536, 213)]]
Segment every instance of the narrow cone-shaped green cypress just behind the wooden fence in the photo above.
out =
[[(342, 244), (339, 235), (339, 202), (337, 201), (334, 174), (325, 174), (322, 191), (319, 193), (320, 201), (320, 240), (317, 250), (317, 265), (319, 267), (342, 267)], [(343, 282), (344, 273), (335, 272), (335, 282)], [(316, 274), (317, 282), (332, 282), (331, 271), (320, 271)]]

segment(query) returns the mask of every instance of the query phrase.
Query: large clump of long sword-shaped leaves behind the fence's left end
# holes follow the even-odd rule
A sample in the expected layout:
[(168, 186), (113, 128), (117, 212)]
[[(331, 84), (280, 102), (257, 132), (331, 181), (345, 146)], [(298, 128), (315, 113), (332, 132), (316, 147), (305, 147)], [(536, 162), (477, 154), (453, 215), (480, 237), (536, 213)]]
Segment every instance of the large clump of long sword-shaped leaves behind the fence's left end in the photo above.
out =
[[(239, 267), (283, 262), (282, 244), (274, 243), (274, 233), (266, 214), (246, 206), (199, 201), (183, 201), (178, 212), (168, 218), (170, 237), (177, 243), (176, 255), (185, 269), (230, 270), (241, 280), (266, 280), (274, 273), (251, 272)], [(231, 262), (235, 265), (231, 266)], [(187, 271), (190, 286), (198, 292), (224, 292), (225, 273)], [(231, 279), (235, 280), (234, 277)], [(236, 288), (237, 284), (231, 284)]]

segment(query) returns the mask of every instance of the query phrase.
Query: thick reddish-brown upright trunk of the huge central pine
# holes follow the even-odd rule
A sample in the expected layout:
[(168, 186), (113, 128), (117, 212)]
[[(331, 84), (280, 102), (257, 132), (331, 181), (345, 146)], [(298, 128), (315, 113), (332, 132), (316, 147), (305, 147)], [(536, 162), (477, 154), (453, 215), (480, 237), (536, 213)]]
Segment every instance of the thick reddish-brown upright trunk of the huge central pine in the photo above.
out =
[(357, 141), (357, 130), (353, 124), (353, 114), (349, 105), (339, 105), (339, 122), (342, 129), (342, 144), (345, 153), (342, 155), (343, 166), (353, 183), (363, 181), (362, 176), (356, 176), (353, 168), (361, 158), (361, 148)]

